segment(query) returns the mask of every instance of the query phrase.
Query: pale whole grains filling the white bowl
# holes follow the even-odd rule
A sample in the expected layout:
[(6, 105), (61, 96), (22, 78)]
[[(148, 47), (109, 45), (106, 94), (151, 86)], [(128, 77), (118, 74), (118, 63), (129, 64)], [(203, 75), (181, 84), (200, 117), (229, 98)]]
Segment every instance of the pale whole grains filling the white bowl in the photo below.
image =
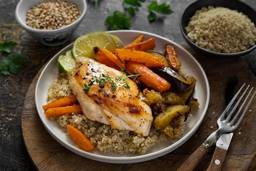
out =
[(69, 25), (79, 17), (79, 10), (71, 2), (42, 2), (26, 12), (26, 25), (34, 29), (53, 30)]

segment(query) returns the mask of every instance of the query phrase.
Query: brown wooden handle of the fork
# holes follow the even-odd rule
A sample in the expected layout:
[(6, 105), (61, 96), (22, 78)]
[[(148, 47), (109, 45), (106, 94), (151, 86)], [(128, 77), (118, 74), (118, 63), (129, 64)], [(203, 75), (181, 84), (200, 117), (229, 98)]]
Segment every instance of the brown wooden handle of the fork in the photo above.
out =
[(208, 152), (207, 147), (202, 144), (189, 158), (179, 167), (178, 171), (194, 170)]

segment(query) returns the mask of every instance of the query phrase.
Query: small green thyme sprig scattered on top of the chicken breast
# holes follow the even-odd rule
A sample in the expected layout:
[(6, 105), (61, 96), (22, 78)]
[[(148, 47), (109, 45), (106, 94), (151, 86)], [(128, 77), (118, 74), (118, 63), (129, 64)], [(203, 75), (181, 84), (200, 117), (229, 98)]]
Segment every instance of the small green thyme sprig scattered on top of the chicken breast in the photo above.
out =
[(136, 79), (140, 76), (140, 74), (131, 75), (131, 76), (124, 76), (124, 77), (110, 77), (109, 75), (102, 74), (99, 77), (92, 77), (89, 81), (89, 85), (84, 84), (84, 91), (87, 93), (89, 92), (89, 88), (93, 84), (99, 84), (101, 88), (105, 86), (107, 82), (111, 84), (112, 91), (116, 91), (119, 87), (124, 86), (125, 88), (130, 88), (127, 80), (129, 78)]

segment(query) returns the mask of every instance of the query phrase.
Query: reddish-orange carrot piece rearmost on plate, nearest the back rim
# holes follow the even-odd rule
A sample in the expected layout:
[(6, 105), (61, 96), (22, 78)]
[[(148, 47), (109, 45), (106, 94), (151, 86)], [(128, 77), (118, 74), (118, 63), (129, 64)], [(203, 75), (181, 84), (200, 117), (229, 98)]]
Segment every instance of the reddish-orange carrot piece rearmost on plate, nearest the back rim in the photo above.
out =
[(154, 49), (156, 47), (155, 39), (150, 38), (148, 40), (145, 40), (144, 42), (140, 42), (137, 44), (132, 44), (130, 46), (124, 47), (124, 49), (131, 49), (131, 50), (137, 50), (137, 51), (146, 51), (150, 49)]

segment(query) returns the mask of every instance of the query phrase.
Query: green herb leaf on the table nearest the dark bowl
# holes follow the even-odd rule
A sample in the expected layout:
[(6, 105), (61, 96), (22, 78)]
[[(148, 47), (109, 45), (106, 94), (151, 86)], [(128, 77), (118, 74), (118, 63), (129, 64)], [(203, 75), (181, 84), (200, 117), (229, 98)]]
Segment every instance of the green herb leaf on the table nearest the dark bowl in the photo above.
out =
[[(171, 6), (166, 3), (157, 4), (157, 1), (153, 1), (149, 6), (147, 6), (147, 10), (150, 12), (147, 16), (147, 19), (149, 19), (150, 22), (153, 22), (156, 20), (157, 15), (155, 12), (160, 14), (170, 14), (173, 11), (171, 10)], [(154, 11), (154, 12), (153, 12)]]

